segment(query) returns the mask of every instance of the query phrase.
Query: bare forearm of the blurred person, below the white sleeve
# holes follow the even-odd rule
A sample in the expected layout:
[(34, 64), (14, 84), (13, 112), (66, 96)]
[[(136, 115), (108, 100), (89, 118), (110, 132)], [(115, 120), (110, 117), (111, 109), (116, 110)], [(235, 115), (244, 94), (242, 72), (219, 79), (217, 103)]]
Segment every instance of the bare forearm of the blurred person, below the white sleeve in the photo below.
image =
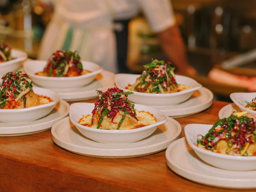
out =
[(179, 29), (172, 26), (157, 34), (164, 53), (175, 64), (180, 73), (195, 75), (196, 71), (189, 64), (186, 56), (186, 49), (183, 44)]

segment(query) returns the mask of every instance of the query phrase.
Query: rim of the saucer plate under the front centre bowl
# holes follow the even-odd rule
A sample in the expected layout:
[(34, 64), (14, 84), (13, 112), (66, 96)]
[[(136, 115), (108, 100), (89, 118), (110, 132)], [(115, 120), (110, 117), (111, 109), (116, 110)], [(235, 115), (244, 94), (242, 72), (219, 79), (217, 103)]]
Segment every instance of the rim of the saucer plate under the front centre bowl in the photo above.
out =
[[(174, 142), (175, 140), (177, 140), (178, 138), (180, 138), (180, 135), (181, 135), (181, 125), (179, 124), (178, 121), (176, 121), (175, 119), (171, 118), (171, 117), (166, 117), (167, 119), (169, 119), (170, 121), (172, 121), (172, 123), (174, 123), (177, 127), (177, 132), (174, 134), (174, 136), (172, 136), (171, 139), (168, 139), (168, 141), (161, 141), (158, 143), (158, 145), (166, 145), (166, 147), (161, 147), (161, 149), (158, 149), (158, 150), (154, 150), (154, 151), (151, 151), (151, 152), (146, 152), (146, 153), (140, 153), (138, 154), (137, 150), (133, 150), (133, 153), (127, 155), (126, 153), (123, 153), (122, 155), (114, 155), (114, 154), (111, 154), (111, 155), (107, 155), (107, 154), (101, 154), (101, 155), (96, 155), (95, 153), (92, 154), (92, 152), (90, 152), (90, 154), (85, 154), (85, 153), (79, 153), (77, 151), (73, 151), (73, 150), (70, 150), (70, 149), (67, 149), (67, 147), (63, 147), (63, 144), (64, 143), (65, 145), (71, 145), (72, 147), (79, 147), (79, 148), (87, 148), (89, 150), (93, 150), (93, 149), (97, 149), (97, 150), (101, 150), (100, 153), (102, 153), (103, 151), (106, 153), (107, 151), (108, 152), (111, 152), (111, 153), (114, 153), (116, 151), (124, 151), (124, 152), (127, 152), (129, 150), (131, 150), (131, 148), (127, 149), (127, 148), (120, 148), (120, 149), (113, 149), (113, 148), (106, 148), (106, 149), (99, 149), (99, 148), (95, 148), (95, 147), (84, 147), (82, 145), (76, 145), (76, 144), (71, 144), (69, 142), (66, 142), (66, 141), (63, 141), (60, 139), (59, 136), (57, 136), (57, 134), (55, 133), (55, 129), (57, 129), (56, 127), (58, 126), (58, 123), (61, 123), (60, 121), (67, 121), (67, 119), (69, 120), (70, 122), (70, 119), (69, 117), (65, 117), (63, 119), (61, 119), (60, 121), (56, 122), (53, 126), (52, 126), (52, 129), (51, 129), (51, 133), (52, 133), (52, 140), (54, 141), (54, 143), (56, 143), (58, 146), (66, 149), (67, 151), (70, 151), (72, 153), (77, 153), (79, 155), (84, 155), (84, 156), (89, 156), (89, 157), (98, 157), (98, 158), (129, 158), (129, 157), (140, 157), (140, 156), (144, 156), (144, 155), (149, 155), (149, 154), (152, 154), (152, 153), (157, 153), (159, 151), (163, 151), (164, 149), (166, 149), (168, 147), (168, 145), (170, 145), (170, 143)], [(77, 129), (77, 128), (75, 128)], [(150, 137), (150, 136), (149, 136)], [(94, 142), (94, 141), (93, 141)], [(170, 143), (169, 143), (170, 142)], [(168, 144), (169, 143), (169, 144)], [(146, 146), (148, 147), (148, 146)], [(140, 150), (142, 150), (143, 148), (146, 148), (145, 146), (144, 147), (140, 147)], [(153, 146), (155, 147), (155, 145)], [(160, 148), (160, 147), (159, 147)], [(162, 149), (163, 148), (163, 149)], [(135, 151), (135, 152), (134, 152)]]

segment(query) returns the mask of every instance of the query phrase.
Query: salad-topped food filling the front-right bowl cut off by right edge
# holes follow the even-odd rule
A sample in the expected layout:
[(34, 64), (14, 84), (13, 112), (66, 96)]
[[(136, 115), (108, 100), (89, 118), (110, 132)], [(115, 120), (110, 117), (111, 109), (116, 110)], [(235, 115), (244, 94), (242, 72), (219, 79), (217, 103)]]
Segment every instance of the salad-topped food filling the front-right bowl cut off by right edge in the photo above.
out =
[(256, 155), (255, 123), (253, 118), (239, 114), (219, 119), (205, 136), (200, 135), (198, 146), (228, 155)]

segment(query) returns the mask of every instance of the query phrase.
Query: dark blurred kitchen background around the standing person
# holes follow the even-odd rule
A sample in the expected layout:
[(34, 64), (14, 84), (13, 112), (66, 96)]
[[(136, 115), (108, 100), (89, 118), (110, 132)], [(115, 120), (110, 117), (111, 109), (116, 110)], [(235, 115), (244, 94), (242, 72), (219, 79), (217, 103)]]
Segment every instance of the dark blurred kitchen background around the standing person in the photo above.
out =
[[(172, 0), (172, 6), (199, 72), (193, 78), (223, 101), (232, 92), (256, 91), (247, 84), (256, 76), (256, 0)], [(0, 13), (0, 41), (36, 58), (52, 10), (36, 0), (0, 0)], [(167, 60), (141, 13), (129, 23), (128, 67), (141, 73), (152, 57)]]

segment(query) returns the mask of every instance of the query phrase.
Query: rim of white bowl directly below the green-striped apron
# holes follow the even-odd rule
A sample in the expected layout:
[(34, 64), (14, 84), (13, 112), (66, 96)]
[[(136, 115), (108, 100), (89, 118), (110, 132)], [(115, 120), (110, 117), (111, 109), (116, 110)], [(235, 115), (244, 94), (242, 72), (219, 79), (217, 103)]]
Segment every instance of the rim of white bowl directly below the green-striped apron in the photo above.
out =
[(63, 80), (81, 80), (81, 79), (84, 79), (84, 78), (88, 78), (90, 76), (93, 76), (93, 75), (97, 75), (99, 73), (101, 73), (103, 71), (103, 68), (96, 64), (96, 63), (93, 63), (93, 62), (89, 62), (89, 61), (84, 61), (84, 60), (81, 60), (81, 63), (91, 63), (93, 65), (96, 65), (97, 67), (99, 67), (99, 69), (97, 69), (96, 71), (92, 71), (91, 73), (87, 73), (87, 74), (84, 74), (84, 75), (78, 75), (78, 76), (69, 76), (69, 77), (53, 77), (53, 76), (40, 76), (40, 75), (35, 75), (34, 73), (30, 73), (29, 70), (27, 70), (27, 63), (30, 63), (30, 62), (47, 62), (46, 60), (28, 60), (26, 62), (24, 62), (24, 71), (26, 74), (28, 74), (28, 76), (30, 76), (31, 78), (37, 78), (37, 79), (41, 79), (41, 80), (54, 80), (54, 81), (63, 81)]

